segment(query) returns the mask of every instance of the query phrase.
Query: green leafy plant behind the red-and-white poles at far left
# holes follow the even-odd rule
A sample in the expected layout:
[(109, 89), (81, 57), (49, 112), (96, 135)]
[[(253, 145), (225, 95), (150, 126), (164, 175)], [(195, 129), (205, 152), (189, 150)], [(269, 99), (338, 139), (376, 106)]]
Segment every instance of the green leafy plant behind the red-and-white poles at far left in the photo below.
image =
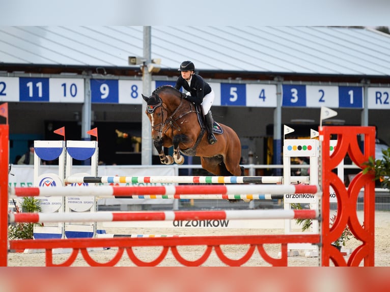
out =
[[(39, 200), (35, 197), (23, 197), (21, 203), (22, 212), (40, 212), (41, 205)], [(19, 208), (16, 206), (16, 212), (19, 212)], [(41, 225), (39, 223), (25, 223), (18, 222), (8, 225), (8, 239), (33, 239), (34, 237), (34, 224)]]

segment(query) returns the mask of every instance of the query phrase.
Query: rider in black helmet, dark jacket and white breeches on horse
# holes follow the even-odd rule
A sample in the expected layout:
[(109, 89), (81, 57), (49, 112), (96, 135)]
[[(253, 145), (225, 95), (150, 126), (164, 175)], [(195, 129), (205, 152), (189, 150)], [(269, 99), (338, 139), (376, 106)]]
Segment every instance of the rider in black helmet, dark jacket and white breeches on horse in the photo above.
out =
[(206, 128), (208, 131), (209, 144), (214, 144), (217, 139), (213, 134), (213, 118), (211, 115), (211, 105), (214, 101), (214, 91), (211, 86), (205, 82), (202, 76), (194, 74), (195, 66), (191, 61), (184, 61), (180, 65), (181, 75), (177, 78), (175, 88), (183, 88), (187, 91), (186, 99), (195, 104), (202, 105), (205, 115)]

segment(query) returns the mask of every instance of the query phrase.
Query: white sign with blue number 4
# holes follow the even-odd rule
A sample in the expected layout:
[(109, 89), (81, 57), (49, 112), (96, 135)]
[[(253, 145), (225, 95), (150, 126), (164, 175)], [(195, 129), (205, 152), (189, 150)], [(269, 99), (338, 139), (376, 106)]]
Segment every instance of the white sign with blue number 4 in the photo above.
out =
[(276, 85), (246, 84), (246, 106), (276, 107)]

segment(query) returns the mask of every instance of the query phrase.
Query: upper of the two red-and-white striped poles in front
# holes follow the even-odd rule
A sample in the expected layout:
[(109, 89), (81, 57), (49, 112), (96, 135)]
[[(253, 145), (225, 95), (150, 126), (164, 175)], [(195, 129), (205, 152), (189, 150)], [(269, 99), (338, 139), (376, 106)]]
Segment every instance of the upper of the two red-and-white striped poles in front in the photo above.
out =
[(10, 196), (115, 196), (190, 194), (316, 194), (317, 185), (179, 185), (179, 186), (89, 186), (10, 188)]

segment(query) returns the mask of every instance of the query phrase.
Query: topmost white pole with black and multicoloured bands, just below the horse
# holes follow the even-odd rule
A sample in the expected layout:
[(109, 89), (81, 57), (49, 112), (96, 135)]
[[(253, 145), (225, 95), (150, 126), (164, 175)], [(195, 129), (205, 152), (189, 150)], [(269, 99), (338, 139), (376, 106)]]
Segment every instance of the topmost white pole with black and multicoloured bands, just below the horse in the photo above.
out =
[[(309, 183), (309, 177), (291, 177), (291, 183)], [(67, 184), (277, 184), (283, 177), (191, 177), (191, 176), (153, 176), (153, 177), (80, 177), (70, 176)]]

